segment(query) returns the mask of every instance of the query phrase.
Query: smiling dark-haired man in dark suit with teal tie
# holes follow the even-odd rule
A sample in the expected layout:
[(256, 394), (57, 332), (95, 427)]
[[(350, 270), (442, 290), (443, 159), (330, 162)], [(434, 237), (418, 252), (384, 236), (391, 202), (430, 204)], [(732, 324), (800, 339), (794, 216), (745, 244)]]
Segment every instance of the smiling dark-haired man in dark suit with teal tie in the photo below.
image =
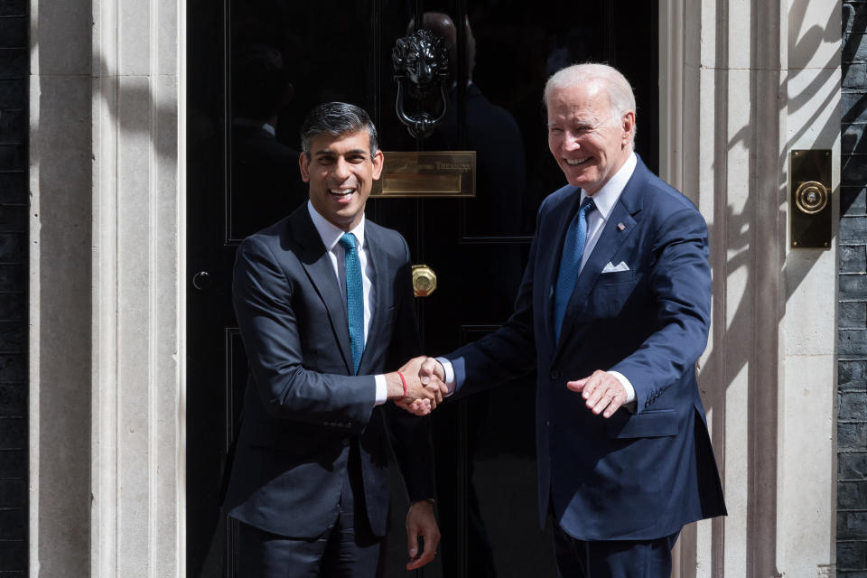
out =
[(224, 510), (240, 522), (239, 572), (376, 575), (387, 424), (411, 500), (407, 567), (416, 568), (439, 541), (429, 418), (385, 402), (424, 414), (442, 394), (420, 384), (422, 358), (384, 373), (418, 352), (409, 250), (364, 218), (383, 164), (364, 110), (314, 108), (302, 145), (309, 202), (247, 238), (235, 266), (250, 377)]

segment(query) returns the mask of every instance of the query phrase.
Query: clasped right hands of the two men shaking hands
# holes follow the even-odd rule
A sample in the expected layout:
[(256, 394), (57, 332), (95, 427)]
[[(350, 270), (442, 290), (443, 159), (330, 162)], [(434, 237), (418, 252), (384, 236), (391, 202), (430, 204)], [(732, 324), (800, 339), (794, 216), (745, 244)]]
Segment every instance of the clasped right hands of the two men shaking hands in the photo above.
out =
[(428, 415), (448, 395), (443, 365), (425, 356), (410, 359), (404, 367), (386, 374), (388, 399), (411, 414)]

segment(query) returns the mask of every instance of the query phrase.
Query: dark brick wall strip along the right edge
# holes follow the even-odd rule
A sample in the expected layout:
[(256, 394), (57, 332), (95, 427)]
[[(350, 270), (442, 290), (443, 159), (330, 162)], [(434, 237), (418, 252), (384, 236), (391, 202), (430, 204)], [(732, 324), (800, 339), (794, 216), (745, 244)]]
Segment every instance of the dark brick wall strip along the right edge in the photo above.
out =
[(867, 578), (867, 2), (843, 5), (837, 576)]

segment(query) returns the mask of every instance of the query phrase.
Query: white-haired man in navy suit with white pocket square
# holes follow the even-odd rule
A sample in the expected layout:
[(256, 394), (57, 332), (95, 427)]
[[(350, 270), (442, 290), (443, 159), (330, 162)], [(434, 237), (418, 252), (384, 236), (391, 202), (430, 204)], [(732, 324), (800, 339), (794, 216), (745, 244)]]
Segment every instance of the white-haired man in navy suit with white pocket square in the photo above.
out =
[(537, 371), (539, 520), (564, 577), (667, 576), (692, 521), (725, 514), (695, 379), (710, 325), (707, 228), (633, 152), (635, 99), (583, 64), (545, 86), (569, 184), (542, 203), (516, 310), (424, 362), (464, 395)]

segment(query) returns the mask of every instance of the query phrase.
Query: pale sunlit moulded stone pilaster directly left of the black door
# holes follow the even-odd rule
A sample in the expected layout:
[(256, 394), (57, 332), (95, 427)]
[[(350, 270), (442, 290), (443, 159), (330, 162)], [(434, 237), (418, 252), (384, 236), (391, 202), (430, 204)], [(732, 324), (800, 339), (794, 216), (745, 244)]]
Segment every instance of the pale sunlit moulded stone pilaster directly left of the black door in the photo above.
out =
[(183, 573), (183, 4), (93, 1), (92, 575)]

